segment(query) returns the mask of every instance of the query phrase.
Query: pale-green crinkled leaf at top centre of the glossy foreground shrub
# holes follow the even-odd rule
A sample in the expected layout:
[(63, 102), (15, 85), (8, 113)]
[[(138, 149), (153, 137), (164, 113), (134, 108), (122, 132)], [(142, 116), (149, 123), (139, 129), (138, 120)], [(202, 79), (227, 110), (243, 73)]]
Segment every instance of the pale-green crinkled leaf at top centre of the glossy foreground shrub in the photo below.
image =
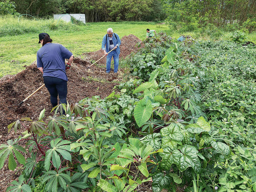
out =
[(181, 128), (183, 125), (172, 123), (167, 127), (161, 129), (162, 134), (162, 148), (170, 147), (171, 149), (177, 148), (177, 143), (183, 140)]

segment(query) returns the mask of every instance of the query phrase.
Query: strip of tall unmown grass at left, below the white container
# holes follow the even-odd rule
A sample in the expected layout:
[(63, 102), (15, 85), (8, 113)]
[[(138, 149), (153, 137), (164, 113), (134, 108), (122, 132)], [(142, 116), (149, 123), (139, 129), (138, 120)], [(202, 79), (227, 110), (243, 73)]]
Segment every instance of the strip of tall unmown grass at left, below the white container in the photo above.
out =
[(0, 37), (13, 36), (25, 33), (41, 33), (53, 30), (69, 30), (77, 31), (79, 28), (76, 24), (70, 22), (57, 21), (53, 19), (25, 19), (8, 15), (7, 17), (0, 18)]

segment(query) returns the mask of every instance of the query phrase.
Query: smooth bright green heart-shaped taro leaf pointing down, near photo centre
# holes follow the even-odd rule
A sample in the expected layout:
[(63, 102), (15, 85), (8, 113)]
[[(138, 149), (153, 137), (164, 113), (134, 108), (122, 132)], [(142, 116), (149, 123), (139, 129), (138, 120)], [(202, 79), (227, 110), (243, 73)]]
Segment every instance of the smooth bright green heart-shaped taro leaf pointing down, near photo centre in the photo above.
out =
[(134, 108), (134, 119), (138, 127), (141, 127), (149, 120), (152, 114), (152, 109), (151, 101), (148, 101), (144, 106), (141, 104), (141, 100), (137, 103)]

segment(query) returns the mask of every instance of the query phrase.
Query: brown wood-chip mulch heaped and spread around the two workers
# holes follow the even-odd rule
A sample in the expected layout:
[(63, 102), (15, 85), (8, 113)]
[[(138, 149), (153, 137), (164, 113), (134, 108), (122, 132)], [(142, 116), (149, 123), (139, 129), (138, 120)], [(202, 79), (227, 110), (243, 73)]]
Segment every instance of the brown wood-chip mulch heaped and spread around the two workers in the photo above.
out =
[[(120, 58), (125, 58), (131, 52), (136, 52), (138, 48), (135, 45), (139, 41), (134, 35), (124, 36), (121, 39)], [(123, 70), (120, 68), (117, 74), (113, 72), (113, 69), (109, 74), (106, 74), (105, 58), (99, 61), (97, 65), (87, 69), (92, 64), (91, 61), (96, 61), (103, 55), (103, 51), (98, 50), (83, 54), (83, 57), (86, 57), (85, 59), (81, 59), (81, 57), (74, 58), (71, 68), (67, 70), (67, 100), (69, 104), (94, 95), (104, 98), (112, 92), (119, 81), (122, 81)], [(12, 129), (8, 133), (7, 126), (15, 120), (22, 117), (37, 120), (43, 108), (45, 108), (45, 117), (53, 115), (51, 113), (50, 94), (45, 87), (22, 105), (18, 105), (42, 84), (42, 73), (38, 71), (35, 62), (16, 75), (6, 75), (0, 79), (0, 145), (6, 143), (9, 139), (15, 139), (22, 135), (21, 132), (24, 129), (18, 130), (17, 133), (14, 133)], [(20, 164), (14, 171), (10, 171), (8, 169), (8, 161), (5, 161), (4, 167), (0, 170), (0, 192), (6, 190), (8, 183), (18, 179), (21, 170), (19, 166)]]

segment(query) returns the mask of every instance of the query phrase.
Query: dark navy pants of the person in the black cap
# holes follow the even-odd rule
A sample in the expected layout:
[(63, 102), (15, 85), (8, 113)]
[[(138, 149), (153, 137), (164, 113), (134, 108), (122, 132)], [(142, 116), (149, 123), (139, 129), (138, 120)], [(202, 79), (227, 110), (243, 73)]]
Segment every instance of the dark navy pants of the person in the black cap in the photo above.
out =
[(51, 95), (51, 103), (53, 107), (58, 105), (58, 94), (60, 99), (60, 104), (65, 103), (67, 104), (67, 81), (57, 78), (57, 77), (51, 77), (51, 76), (44, 76), (43, 81), (45, 84), (45, 87), (48, 89), (50, 95)]

